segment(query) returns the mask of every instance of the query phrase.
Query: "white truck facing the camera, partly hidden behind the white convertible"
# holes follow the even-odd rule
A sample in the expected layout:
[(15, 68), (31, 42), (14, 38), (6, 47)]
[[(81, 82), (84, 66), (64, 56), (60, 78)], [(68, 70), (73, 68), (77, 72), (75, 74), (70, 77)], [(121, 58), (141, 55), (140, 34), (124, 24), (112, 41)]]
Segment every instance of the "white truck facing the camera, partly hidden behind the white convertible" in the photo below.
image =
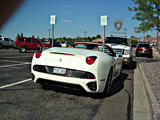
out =
[(112, 47), (116, 54), (123, 55), (123, 65), (130, 65), (132, 62), (131, 41), (126, 37), (110, 36), (105, 38), (105, 44)]

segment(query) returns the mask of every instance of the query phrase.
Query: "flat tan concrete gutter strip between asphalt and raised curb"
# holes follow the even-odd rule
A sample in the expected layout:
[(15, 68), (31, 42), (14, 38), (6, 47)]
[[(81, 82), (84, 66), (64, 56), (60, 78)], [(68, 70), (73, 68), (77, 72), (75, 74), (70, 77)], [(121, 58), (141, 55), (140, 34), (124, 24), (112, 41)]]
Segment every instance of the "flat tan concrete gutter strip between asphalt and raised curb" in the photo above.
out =
[(143, 77), (137, 65), (134, 70), (133, 120), (153, 120)]

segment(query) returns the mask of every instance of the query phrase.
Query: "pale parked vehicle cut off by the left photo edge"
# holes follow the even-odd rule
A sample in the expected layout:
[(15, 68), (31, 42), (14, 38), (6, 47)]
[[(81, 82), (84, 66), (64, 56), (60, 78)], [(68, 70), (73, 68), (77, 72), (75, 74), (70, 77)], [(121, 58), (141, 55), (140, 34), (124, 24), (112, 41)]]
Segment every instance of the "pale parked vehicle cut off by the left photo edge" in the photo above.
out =
[(13, 40), (11, 40), (10, 38), (3, 38), (0, 37), (0, 49), (2, 48), (13, 48)]

